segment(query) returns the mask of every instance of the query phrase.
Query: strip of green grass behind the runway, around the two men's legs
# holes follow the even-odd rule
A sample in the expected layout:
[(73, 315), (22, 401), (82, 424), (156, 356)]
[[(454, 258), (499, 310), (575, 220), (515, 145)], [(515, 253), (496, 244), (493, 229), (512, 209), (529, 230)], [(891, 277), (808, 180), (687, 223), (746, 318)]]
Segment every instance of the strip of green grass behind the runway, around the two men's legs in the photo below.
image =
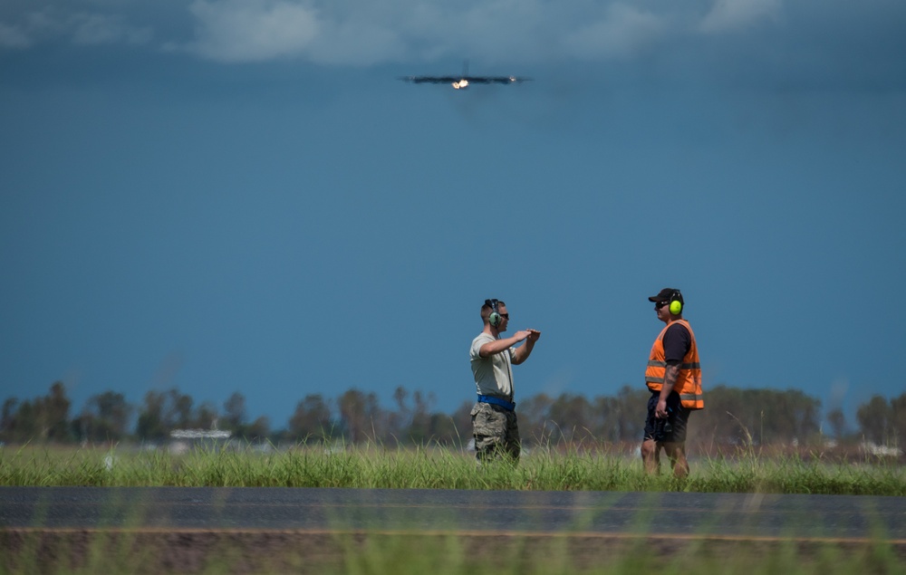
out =
[[(666, 462), (665, 462), (666, 464)], [(261, 453), (198, 449), (183, 455), (128, 448), (0, 448), (0, 485), (352, 487), (535, 491), (906, 495), (896, 462), (835, 463), (821, 457), (734, 457), (693, 461), (683, 481), (643, 473), (641, 460), (607, 451), (537, 449), (519, 465), (478, 466), (470, 454), (436, 448)], [(665, 465), (666, 468), (666, 465)]]

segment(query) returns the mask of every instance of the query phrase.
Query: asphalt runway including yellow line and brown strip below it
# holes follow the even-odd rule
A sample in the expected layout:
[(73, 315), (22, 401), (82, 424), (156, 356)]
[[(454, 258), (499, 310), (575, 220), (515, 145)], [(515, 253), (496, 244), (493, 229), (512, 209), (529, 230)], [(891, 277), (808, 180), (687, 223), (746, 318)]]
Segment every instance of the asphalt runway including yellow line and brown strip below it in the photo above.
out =
[[(906, 556), (906, 498), (853, 495), (620, 492), (494, 492), (420, 489), (0, 487), (0, 547), (15, 555), (29, 536), (41, 548), (82, 555), (92, 536), (130, 534), (165, 568), (185, 570), (198, 554), (242, 549), (250, 565), (287, 550), (336, 559), (338, 536), (455, 536), (470, 552), (494, 541), (575, 542), (599, 561), (624, 541), (652, 552), (691, 542), (858, 549), (882, 543)], [(421, 541), (421, 540), (419, 540)], [(651, 546), (651, 541), (655, 545)], [(420, 543), (419, 543), (420, 544)], [(571, 543), (573, 544), (573, 543)], [(523, 545), (525, 546), (525, 545)], [(334, 551), (330, 551), (333, 549)], [(543, 549), (538, 546), (538, 550)], [(333, 555), (331, 553), (333, 552)], [(540, 552), (540, 551), (539, 551)], [(583, 555), (584, 553), (584, 555)], [(53, 553), (52, 553), (53, 554)], [(220, 553), (218, 553), (220, 554)], [(257, 558), (257, 559), (255, 559)], [(254, 560), (254, 561), (253, 561)], [(73, 564), (78, 564), (77, 560)], [(254, 571), (251, 569), (249, 572)], [(243, 570), (238, 570), (243, 572)], [(315, 571), (313, 571), (315, 572)]]

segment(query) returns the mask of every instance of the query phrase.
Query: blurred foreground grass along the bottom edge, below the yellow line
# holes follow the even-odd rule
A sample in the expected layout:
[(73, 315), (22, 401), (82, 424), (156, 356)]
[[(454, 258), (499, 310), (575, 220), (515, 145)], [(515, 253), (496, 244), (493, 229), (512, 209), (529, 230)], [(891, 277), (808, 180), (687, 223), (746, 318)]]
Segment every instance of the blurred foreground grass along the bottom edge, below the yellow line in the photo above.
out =
[[(0, 575), (119, 573), (318, 573), (349, 575), (849, 575), (902, 573), (906, 562), (890, 545), (844, 548), (798, 541), (691, 541), (670, 548), (644, 537), (628, 541), (574, 541), (529, 535), (481, 540), (458, 535), (340, 533), (324, 541), (265, 541), (260, 536), (179, 541), (159, 535), (38, 533), (14, 539), (0, 532)], [(255, 547), (267, 547), (266, 553)], [(202, 550), (187, 561), (188, 548)], [(176, 552), (174, 552), (176, 550)], [(182, 557), (180, 557), (180, 554)]]

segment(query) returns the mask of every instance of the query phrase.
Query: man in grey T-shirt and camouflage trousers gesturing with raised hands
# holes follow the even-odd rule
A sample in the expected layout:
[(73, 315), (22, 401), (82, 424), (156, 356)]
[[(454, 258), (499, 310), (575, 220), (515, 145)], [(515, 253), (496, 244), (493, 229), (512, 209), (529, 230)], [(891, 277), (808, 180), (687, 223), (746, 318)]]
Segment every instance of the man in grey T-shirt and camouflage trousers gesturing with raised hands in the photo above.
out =
[[(469, 349), (478, 393), (471, 413), (476, 457), (482, 462), (506, 455), (517, 462), (520, 445), (513, 401), (513, 366), (528, 359), (541, 331), (516, 331), (512, 337), (501, 339), (500, 334), (509, 324), (509, 313), (506, 303), (497, 300), (485, 300), (481, 321), (485, 327)], [(525, 344), (514, 347), (520, 341)]]

